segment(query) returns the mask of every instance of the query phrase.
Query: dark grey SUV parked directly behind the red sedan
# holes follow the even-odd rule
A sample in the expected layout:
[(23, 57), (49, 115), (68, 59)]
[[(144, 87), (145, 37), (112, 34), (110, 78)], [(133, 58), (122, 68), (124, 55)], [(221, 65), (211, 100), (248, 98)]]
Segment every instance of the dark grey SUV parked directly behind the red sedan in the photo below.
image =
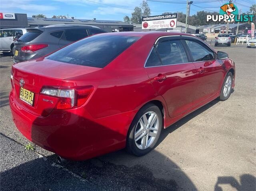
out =
[(14, 63), (37, 59), (74, 41), (106, 31), (90, 25), (50, 25), (30, 28), (15, 45)]

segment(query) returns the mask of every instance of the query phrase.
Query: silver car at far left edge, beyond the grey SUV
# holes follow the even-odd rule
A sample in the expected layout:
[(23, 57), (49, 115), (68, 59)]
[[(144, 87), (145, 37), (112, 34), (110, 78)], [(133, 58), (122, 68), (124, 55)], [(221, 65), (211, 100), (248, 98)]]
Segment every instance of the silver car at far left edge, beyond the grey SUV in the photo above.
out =
[(14, 38), (18, 39), (27, 30), (25, 28), (12, 28), (0, 30), (0, 52), (4, 55), (8, 55), (14, 52)]

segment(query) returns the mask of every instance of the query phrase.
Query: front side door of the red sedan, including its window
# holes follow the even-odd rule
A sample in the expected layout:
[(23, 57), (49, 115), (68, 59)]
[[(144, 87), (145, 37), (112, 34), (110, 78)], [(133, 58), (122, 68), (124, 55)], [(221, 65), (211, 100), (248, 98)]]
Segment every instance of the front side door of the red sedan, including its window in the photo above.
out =
[(195, 38), (185, 38), (191, 58), (198, 72), (198, 86), (194, 104), (197, 105), (218, 93), (225, 75), (222, 61), (205, 43)]

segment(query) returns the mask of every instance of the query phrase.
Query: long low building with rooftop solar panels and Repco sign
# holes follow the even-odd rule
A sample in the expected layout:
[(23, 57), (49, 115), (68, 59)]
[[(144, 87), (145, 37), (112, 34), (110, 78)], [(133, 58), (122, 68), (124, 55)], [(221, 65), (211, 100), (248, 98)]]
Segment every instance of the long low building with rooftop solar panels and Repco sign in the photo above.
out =
[[(3, 14), (5, 15), (5, 14)], [(10, 16), (12, 15), (12, 18)], [(0, 18), (0, 28), (35, 28), (56, 24), (80, 24), (97, 26), (107, 32), (133, 31), (134, 26), (122, 21), (96, 20), (96, 19), (62, 19), (62, 18), (37, 18), (27, 17), (27, 14), (13, 13), (5, 18)], [(1, 16), (1, 13), (0, 13)]]

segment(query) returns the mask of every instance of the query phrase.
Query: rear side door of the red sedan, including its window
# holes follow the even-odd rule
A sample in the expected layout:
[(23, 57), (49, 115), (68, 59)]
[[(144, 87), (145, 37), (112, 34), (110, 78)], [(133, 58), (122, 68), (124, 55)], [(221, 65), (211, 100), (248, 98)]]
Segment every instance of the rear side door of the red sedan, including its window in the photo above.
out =
[(170, 117), (193, 107), (197, 72), (180, 37), (160, 38), (152, 48), (145, 70), (155, 91), (164, 97)]

